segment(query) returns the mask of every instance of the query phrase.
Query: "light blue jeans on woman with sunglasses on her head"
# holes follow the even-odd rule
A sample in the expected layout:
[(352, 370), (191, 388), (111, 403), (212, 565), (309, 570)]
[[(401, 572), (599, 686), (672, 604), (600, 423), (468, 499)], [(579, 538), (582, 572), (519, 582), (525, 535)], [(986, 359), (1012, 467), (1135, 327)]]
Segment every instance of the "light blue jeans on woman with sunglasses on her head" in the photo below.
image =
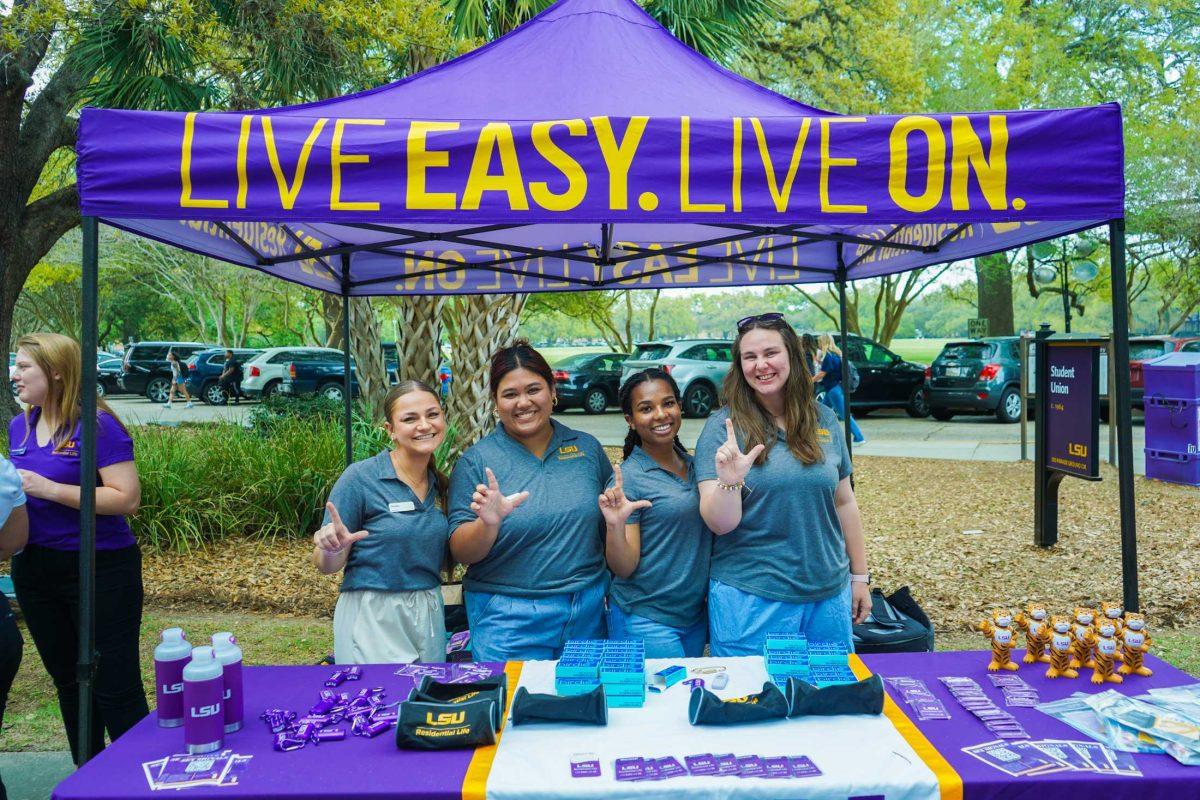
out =
[(708, 581), (708, 644), (713, 656), (761, 656), (768, 633), (803, 633), (811, 642), (844, 642), (854, 651), (850, 582), (828, 600), (785, 603)]

